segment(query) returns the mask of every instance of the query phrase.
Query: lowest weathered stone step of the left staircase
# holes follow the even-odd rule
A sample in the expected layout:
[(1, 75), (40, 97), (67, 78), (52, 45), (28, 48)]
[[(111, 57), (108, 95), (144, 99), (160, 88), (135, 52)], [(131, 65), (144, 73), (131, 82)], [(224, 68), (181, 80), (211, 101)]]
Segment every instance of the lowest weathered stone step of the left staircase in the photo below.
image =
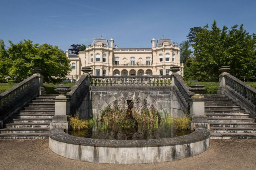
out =
[(48, 133), (7, 133), (0, 134), (0, 139), (48, 139)]

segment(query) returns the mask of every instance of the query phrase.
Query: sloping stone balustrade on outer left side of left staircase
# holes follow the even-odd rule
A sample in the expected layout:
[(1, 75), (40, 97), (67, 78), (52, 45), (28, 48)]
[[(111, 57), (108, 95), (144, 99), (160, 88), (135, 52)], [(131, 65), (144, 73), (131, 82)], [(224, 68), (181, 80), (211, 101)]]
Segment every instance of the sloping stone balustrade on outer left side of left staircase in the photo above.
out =
[[(26, 80), (0, 94), (0, 121), (18, 108), (30, 102), (39, 92), (38, 75)], [(20, 109), (21, 109), (20, 108)]]

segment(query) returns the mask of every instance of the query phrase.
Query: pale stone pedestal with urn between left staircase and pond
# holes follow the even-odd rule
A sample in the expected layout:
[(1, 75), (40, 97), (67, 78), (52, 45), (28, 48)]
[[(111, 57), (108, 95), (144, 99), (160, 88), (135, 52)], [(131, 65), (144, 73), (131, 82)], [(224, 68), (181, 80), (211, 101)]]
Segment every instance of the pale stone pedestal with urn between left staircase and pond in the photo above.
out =
[(70, 113), (70, 99), (66, 94), (71, 91), (70, 86), (56, 86), (54, 89), (60, 95), (55, 98), (55, 115), (52, 117), (50, 129), (53, 128), (64, 128), (66, 131), (69, 130), (68, 115)]

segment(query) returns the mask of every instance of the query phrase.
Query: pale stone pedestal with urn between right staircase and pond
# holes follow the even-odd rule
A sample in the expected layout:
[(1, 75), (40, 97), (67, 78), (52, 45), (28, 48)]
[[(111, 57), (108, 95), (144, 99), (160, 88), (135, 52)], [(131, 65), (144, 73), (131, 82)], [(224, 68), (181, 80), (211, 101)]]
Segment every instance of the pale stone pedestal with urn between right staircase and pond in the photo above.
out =
[(205, 88), (202, 85), (189, 86), (189, 90), (195, 92), (193, 96), (189, 98), (190, 101), (190, 119), (191, 119), (191, 128), (208, 128), (210, 129), (210, 124), (207, 121), (207, 116), (205, 115), (205, 98), (200, 95), (201, 91), (204, 91)]

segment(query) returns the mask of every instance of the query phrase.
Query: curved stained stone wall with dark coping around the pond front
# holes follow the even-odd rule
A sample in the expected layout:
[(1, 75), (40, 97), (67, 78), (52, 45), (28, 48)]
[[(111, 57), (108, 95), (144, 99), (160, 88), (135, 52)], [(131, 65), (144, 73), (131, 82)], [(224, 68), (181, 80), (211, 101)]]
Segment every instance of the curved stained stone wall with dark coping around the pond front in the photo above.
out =
[(68, 135), (64, 129), (49, 132), (49, 147), (69, 159), (93, 163), (139, 164), (167, 162), (195, 156), (209, 147), (210, 131), (165, 139), (104, 140)]

